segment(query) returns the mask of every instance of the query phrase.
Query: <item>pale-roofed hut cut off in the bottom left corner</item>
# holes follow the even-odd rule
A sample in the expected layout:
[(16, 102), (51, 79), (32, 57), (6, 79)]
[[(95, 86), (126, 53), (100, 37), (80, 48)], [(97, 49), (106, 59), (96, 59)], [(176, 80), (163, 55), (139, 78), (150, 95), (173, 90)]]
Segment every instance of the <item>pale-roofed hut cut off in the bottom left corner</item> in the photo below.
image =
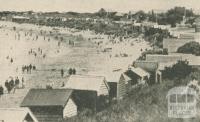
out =
[(39, 122), (28, 108), (1, 108), (0, 122)]

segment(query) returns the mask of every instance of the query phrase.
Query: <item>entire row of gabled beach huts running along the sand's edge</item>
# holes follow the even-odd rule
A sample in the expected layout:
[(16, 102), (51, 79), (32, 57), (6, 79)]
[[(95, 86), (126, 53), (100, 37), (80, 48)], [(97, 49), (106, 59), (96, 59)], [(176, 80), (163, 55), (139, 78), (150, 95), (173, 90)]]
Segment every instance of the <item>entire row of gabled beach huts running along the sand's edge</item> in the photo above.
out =
[(19, 108), (0, 109), (0, 122), (57, 122), (84, 109), (98, 112), (135, 86), (161, 80), (158, 63), (142, 61), (104, 75), (71, 75), (62, 88), (30, 89)]

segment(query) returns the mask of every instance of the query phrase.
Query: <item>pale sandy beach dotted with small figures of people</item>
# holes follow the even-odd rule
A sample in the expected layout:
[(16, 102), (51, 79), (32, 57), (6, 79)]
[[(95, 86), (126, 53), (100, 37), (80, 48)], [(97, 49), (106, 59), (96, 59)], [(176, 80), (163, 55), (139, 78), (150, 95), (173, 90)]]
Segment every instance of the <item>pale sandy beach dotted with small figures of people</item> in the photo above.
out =
[[(66, 82), (69, 68), (75, 68), (77, 74), (126, 69), (140, 56), (141, 49), (149, 48), (144, 40), (130, 38), (120, 42), (119, 38), (115, 38), (110, 41), (107, 35), (96, 35), (91, 31), (10, 22), (0, 22), (0, 27), (0, 83), (4, 86), (9, 77), (24, 77), (26, 86), (25, 89), (17, 89), (14, 94), (5, 94), (0, 101), (1, 107), (18, 106), (29, 88), (45, 88), (48, 84), (54, 88), (61, 87)], [(41, 30), (45, 34), (41, 34)], [(49, 32), (52, 34), (47, 34)], [(25, 36), (25, 33), (30, 35)], [(60, 40), (55, 39), (55, 35), (63, 37), (60, 46)], [(75, 45), (69, 45), (69, 41)], [(39, 48), (42, 54), (38, 52)], [(105, 51), (107, 48), (112, 50)], [(29, 54), (31, 50), (37, 56)], [(23, 73), (22, 66), (30, 64), (35, 65), (36, 70), (31, 74)], [(61, 77), (61, 69), (64, 70), (64, 77)]]

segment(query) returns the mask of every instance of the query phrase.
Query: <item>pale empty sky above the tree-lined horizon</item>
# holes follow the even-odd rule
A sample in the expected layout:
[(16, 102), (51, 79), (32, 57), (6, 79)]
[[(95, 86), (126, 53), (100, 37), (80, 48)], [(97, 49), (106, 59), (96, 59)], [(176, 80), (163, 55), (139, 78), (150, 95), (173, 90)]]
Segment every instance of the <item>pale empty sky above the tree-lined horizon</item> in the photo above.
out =
[(200, 10), (200, 0), (0, 0), (0, 11), (96, 12), (100, 8), (119, 12), (167, 10), (174, 6)]

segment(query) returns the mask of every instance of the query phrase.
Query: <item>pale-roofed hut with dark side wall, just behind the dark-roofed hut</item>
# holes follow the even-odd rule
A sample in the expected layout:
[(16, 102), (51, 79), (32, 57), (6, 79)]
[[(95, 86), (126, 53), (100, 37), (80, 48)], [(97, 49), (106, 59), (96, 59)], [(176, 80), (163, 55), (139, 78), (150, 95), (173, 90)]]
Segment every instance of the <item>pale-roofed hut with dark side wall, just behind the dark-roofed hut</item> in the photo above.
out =
[(109, 86), (103, 76), (72, 75), (65, 88), (73, 89), (73, 99), (79, 110), (89, 108), (98, 111), (109, 97)]

